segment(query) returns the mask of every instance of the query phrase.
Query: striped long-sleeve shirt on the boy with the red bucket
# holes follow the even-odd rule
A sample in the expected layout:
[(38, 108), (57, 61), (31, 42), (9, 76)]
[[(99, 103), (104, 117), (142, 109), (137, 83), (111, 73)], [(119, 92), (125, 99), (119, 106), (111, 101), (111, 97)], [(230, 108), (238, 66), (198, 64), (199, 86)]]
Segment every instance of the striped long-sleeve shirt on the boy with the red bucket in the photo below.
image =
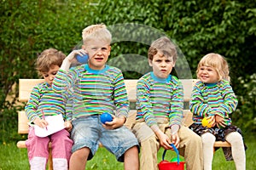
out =
[(170, 75), (166, 79), (149, 72), (137, 82), (137, 119), (144, 119), (148, 127), (157, 125), (157, 117), (166, 117), (170, 127), (180, 125), (183, 116), (183, 86)]

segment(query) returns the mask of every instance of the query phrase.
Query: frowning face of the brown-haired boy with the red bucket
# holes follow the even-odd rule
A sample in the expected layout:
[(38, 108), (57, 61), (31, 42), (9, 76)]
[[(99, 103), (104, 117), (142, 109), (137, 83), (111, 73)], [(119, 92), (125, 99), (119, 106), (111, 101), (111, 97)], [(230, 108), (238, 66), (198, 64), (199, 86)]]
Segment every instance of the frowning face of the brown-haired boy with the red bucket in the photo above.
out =
[(154, 76), (160, 78), (167, 78), (175, 65), (171, 56), (164, 56), (160, 52), (152, 60), (149, 59), (148, 63), (153, 67)]

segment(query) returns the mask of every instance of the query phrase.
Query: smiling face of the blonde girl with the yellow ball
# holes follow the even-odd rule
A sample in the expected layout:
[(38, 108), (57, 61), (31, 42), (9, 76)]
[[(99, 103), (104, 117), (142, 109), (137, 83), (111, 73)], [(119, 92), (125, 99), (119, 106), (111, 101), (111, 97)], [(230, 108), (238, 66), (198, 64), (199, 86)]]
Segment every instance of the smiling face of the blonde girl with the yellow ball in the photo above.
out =
[(197, 77), (205, 83), (218, 82), (218, 72), (212, 66), (200, 66)]

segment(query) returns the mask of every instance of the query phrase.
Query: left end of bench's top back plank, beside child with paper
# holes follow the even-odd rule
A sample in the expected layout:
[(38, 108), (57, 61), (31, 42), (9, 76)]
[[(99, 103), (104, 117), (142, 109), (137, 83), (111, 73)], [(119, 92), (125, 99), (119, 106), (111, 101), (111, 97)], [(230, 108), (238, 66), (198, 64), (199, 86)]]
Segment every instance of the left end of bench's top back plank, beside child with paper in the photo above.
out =
[(19, 101), (27, 102), (32, 92), (32, 88), (44, 79), (19, 79)]

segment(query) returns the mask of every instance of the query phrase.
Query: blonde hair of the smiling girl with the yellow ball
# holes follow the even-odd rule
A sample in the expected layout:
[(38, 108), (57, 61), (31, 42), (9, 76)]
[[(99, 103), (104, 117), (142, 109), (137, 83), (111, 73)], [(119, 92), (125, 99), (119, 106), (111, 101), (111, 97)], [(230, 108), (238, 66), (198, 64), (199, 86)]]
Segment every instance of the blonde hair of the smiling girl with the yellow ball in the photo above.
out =
[(230, 82), (230, 69), (227, 60), (220, 54), (207, 54), (197, 65), (196, 74), (198, 74), (201, 66), (211, 66), (218, 73), (218, 81), (226, 80)]

